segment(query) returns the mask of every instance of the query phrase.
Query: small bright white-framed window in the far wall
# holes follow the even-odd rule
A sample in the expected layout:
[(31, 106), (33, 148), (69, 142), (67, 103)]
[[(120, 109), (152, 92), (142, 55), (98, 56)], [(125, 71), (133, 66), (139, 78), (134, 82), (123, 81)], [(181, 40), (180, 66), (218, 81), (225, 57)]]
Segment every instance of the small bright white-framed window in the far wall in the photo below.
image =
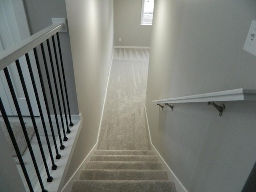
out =
[(154, 0), (142, 0), (141, 22), (142, 25), (152, 25)]

